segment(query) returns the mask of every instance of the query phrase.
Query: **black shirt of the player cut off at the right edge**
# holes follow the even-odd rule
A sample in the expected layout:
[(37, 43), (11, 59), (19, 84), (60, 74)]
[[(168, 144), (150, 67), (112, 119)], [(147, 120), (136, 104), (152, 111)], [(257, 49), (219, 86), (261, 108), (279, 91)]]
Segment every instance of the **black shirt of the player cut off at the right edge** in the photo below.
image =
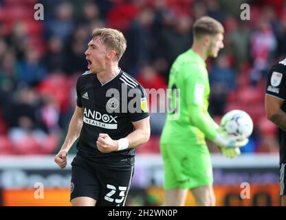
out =
[[(286, 59), (276, 63), (268, 73), (266, 94), (281, 100), (286, 99)], [(286, 102), (281, 109), (286, 112)], [(280, 163), (286, 162), (286, 132), (278, 131), (280, 145)]]

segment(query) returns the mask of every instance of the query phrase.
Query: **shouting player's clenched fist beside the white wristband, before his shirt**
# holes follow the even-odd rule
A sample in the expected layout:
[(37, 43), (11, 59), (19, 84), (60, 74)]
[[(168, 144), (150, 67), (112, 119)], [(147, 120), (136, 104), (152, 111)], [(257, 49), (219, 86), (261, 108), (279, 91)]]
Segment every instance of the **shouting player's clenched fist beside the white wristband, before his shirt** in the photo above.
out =
[(112, 140), (107, 133), (100, 133), (96, 141), (98, 151), (102, 153), (109, 153), (111, 151), (118, 151), (118, 142)]

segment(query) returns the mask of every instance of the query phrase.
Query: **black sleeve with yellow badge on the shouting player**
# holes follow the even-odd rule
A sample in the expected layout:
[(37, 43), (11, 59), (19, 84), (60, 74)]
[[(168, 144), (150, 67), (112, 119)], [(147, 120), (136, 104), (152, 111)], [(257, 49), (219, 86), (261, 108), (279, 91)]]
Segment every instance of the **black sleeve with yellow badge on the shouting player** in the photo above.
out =
[(148, 97), (143, 87), (131, 89), (131, 97), (128, 98), (128, 113), (132, 122), (138, 122), (149, 116)]

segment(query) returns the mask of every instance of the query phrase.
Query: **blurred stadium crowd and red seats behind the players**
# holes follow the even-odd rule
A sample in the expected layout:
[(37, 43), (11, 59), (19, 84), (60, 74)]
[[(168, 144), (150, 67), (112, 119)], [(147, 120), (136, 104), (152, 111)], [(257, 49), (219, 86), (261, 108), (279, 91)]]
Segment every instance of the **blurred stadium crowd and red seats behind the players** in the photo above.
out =
[[(34, 19), (36, 3), (44, 6), (43, 21)], [(121, 30), (128, 46), (120, 67), (146, 89), (166, 89), (170, 65), (190, 48), (192, 23), (203, 15), (225, 27), (225, 48), (207, 62), (211, 115), (219, 122), (231, 109), (247, 111), (254, 133), (242, 151), (277, 152), (264, 94), (268, 69), (286, 56), (286, 1), (247, 1), (250, 21), (241, 21), (241, 3), (0, 0), (0, 154), (53, 154), (61, 147), (94, 28)], [(164, 113), (151, 114), (152, 136), (138, 153), (159, 153), (164, 119)]]

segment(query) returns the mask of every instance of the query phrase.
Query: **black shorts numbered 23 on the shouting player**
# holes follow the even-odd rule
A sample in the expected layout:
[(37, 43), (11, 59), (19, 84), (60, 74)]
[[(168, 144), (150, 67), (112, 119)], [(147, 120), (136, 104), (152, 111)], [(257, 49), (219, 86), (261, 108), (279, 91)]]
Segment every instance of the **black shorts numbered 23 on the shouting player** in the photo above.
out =
[(133, 177), (130, 170), (106, 168), (76, 155), (72, 162), (71, 200), (96, 199), (96, 206), (124, 206)]

